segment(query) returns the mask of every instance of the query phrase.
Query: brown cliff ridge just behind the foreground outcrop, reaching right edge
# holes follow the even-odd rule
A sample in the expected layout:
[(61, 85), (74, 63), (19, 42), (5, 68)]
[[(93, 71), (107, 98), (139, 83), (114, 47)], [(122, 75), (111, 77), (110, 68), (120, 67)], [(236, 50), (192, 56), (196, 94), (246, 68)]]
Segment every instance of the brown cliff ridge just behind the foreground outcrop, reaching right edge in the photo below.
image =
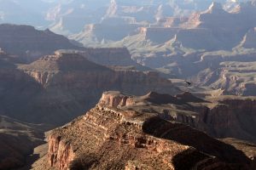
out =
[(149, 93), (141, 97), (126, 98), (108, 101), (112, 101), (110, 104), (120, 101), (119, 106), (122, 106), (123, 99), (126, 99), (125, 108), (130, 111), (157, 112), (167, 120), (188, 124), (215, 138), (232, 137), (256, 142), (253, 130), (256, 121), (253, 97), (223, 96), (204, 100), (190, 93), (176, 96)]

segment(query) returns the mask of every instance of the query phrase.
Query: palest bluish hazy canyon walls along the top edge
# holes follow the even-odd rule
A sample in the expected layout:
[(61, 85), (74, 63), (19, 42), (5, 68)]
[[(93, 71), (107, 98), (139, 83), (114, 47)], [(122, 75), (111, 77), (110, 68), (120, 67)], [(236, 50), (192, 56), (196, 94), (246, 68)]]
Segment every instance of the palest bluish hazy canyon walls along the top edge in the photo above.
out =
[[(238, 3), (232, 0), (215, 2), (223, 3), (226, 8)], [(210, 3), (212, 0), (0, 0), (0, 23), (51, 27), (54, 31), (70, 34), (81, 31), (85, 24), (100, 23), (107, 17), (134, 17), (137, 21), (152, 23), (159, 17), (204, 10)]]

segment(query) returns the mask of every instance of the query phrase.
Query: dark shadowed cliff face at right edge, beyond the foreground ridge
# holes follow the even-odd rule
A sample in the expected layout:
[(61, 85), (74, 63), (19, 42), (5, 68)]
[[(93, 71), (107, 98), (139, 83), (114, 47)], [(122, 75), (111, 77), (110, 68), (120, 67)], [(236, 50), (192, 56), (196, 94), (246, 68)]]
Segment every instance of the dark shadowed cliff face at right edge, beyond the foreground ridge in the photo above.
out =
[[(202, 114), (204, 122), (218, 138), (234, 137), (255, 143), (255, 99), (224, 99)], [(215, 134), (214, 134), (215, 133)]]

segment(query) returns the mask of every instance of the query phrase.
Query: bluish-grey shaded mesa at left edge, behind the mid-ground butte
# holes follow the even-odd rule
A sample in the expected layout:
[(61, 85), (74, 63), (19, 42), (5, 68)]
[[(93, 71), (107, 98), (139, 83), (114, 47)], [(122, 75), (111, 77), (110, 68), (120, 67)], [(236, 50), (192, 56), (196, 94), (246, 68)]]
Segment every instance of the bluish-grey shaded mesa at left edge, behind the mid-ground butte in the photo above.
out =
[(51, 54), (57, 49), (79, 49), (66, 37), (52, 31), (38, 31), (32, 26), (9, 24), (0, 25), (0, 48), (9, 54), (28, 56), (32, 59)]

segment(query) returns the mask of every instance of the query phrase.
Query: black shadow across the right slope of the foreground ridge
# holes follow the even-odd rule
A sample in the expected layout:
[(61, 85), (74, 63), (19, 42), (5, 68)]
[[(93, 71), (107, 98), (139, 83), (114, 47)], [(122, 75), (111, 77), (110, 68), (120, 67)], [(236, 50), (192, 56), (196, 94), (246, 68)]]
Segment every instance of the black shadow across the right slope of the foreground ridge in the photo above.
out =
[(189, 152), (189, 154), (180, 153), (175, 156), (172, 161), (177, 169), (194, 167), (196, 162), (203, 160), (207, 155), (216, 156), (219, 161), (231, 164), (246, 165), (246, 167), (250, 164), (247, 156), (241, 150), (236, 150), (234, 146), (224, 144), (192, 127), (181, 123), (168, 122), (158, 116), (143, 124), (143, 132), (160, 139), (169, 139), (179, 144), (189, 145), (197, 150)]

